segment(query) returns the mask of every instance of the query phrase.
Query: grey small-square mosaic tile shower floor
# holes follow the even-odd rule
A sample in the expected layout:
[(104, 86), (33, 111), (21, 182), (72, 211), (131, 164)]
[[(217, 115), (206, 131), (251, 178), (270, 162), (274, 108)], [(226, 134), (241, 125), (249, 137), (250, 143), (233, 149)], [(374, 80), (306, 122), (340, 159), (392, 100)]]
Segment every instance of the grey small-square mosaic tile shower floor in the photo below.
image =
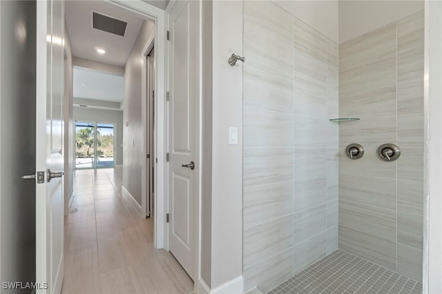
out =
[(269, 292), (282, 293), (417, 294), (422, 293), (422, 284), (337, 250)]

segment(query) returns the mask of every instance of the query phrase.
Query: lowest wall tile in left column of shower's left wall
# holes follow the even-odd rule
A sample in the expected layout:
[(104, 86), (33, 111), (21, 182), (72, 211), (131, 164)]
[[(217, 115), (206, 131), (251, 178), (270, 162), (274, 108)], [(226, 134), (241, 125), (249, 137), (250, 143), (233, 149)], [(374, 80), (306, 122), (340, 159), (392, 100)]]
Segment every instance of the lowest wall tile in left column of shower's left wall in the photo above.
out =
[(244, 290), (248, 291), (257, 286), (267, 293), (282, 282), (293, 276), (293, 248), (275, 253), (247, 268), (244, 267)]

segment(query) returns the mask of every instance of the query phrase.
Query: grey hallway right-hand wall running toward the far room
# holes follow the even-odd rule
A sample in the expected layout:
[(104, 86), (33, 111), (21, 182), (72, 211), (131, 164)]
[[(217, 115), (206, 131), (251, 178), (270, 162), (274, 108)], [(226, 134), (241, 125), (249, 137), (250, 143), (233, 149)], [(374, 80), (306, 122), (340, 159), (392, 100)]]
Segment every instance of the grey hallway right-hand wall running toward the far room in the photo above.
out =
[[(144, 21), (124, 69), (124, 142), (123, 186), (141, 205), (143, 155), (142, 70), (143, 48), (155, 29), (155, 23)], [(127, 126), (126, 126), (127, 124)]]

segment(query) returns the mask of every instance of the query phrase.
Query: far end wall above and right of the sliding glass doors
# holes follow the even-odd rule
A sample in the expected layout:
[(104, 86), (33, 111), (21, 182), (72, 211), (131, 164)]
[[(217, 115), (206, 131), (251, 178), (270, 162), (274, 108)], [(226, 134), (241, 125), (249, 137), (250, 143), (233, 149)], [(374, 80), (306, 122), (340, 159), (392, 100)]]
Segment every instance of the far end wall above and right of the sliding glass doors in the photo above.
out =
[[(74, 107), (74, 121), (113, 123), (115, 125), (115, 165), (123, 164), (123, 112), (121, 110), (104, 110)], [(73, 145), (71, 145), (73, 148)]]

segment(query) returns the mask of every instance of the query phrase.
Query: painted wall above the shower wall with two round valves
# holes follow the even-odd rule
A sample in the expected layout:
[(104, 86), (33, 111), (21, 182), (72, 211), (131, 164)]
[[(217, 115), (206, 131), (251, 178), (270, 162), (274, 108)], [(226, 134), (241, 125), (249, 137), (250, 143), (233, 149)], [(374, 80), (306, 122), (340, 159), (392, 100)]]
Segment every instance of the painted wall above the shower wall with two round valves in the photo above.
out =
[(423, 10), (423, 3), (423, 0), (339, 1), (339, 43)]

